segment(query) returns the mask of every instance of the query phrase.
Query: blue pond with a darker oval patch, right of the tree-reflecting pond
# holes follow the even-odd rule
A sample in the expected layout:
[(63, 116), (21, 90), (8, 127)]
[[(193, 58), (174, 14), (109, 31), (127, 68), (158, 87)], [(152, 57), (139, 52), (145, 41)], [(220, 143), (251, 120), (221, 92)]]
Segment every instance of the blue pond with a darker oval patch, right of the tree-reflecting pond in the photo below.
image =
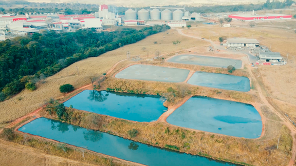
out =
[(194, 96), (177, 108), (167, 121), (176, 126), (235, 137), (258, 138), (260, 114), (242, 102)]

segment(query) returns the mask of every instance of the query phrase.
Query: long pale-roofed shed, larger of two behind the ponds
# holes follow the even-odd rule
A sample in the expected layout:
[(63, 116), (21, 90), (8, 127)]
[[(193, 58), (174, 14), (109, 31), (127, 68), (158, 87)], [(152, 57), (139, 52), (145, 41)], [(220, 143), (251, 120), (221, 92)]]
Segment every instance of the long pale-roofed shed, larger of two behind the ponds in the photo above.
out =
[(260, 45), (257, 39), (252, 38), (228, 38), (227, 47), (258, 47)]

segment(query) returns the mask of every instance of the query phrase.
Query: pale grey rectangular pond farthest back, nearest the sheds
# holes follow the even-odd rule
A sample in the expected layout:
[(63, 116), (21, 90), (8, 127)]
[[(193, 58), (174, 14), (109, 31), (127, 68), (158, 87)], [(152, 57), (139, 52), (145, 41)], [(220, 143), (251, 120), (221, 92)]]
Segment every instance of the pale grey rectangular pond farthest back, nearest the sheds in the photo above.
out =
[(232, 65), (236, 69), (242, 68), (242, 60), (200, 55), (178, 55), (170, 58), (168, 62), (218, 68), (227, 68)]

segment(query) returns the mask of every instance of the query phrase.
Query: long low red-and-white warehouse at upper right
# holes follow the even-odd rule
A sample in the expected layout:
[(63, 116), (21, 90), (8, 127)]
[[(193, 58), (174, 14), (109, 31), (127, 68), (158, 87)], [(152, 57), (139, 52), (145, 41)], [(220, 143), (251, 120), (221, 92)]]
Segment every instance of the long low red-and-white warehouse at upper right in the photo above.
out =
[(292, 19), (292, 15), (285, 14), (266, 14), (266, 15), (248, 15), (248, 14), (231, 14), (229, 18), (244, 21), (253, 20), (277, 20), (277, 19)]

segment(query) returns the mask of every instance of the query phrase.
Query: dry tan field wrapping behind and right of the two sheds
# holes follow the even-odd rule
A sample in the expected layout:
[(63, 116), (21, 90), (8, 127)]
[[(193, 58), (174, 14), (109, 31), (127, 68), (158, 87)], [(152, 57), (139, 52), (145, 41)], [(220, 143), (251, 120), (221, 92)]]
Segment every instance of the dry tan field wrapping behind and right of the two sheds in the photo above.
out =
[[(290, 30), (275, 28), (221, 28), (219, 26), (208, 26), (191, 29), (187, 34), (209, 38), (218, 41), (220, 36), (256, 38), (261, 45), (270, 47), (273, 52), (280, 52), (286, 59), (289, 53), (286, 66), (259, 66), (256, 76), (261, 76), (262, 84), (270, 97), (286, 101), (296, 107), (296, 87), (293, 86), (296, 80), (296, 34)], [(281, 108), (284, 112), (292, 113), (292, 107)], [(296, 115), (292, 113), (296, 118)]]

